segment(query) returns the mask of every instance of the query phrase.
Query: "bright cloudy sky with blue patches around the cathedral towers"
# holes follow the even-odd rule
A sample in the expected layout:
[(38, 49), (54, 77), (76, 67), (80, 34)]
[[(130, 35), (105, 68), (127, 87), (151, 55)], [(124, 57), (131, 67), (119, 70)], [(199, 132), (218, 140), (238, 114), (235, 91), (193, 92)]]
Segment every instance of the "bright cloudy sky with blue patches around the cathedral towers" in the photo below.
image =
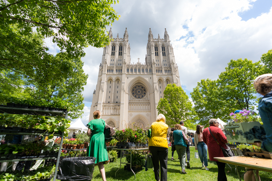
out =
[[(183, 90), (190, 92), (201, 79), (218, 78), (231, 59), (259, 61), (272, 49), (271, 0), (177, 0), (125, 1), (113, 5), (120, 15), (112, 26), (113, 38), (128, 30), (131, 63), (144, 63), (149, 28), (153, 37), (166, 28), (174, 48)], [(108, 30), (110, 29), (108, 27)], [(47, 42), (50, 51), (58, 47)], [(89, 75), (84, 86), (82, 122), (89, 122), (92, 94), (96, 88), (103, 48), (88, 47), (82, 58)]]

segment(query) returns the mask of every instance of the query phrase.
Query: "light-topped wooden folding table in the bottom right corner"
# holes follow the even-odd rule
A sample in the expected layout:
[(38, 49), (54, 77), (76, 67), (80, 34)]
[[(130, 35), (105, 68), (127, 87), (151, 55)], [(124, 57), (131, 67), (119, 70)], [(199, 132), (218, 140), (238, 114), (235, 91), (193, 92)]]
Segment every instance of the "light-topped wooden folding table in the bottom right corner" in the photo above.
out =
[[(272, 159), (253, 158), (253, 157), (245, 157), (245, 156), (214, 157), (214, 159), (218, 160), (219, 162), (235, 165), (235, 170), (238, 174), (238, 178), (240, 181), (241, 181), (241, 176), (243, 176), (248, 171), (248, 168), (253, 169), (256, 180), (258, 180), (256, 175), (256, 170), (262, 170), (265, 172), (272, 173)], [(237, 166), (247, 167), (247, 169), (245, 170), (244, 173), (240, 175)]]

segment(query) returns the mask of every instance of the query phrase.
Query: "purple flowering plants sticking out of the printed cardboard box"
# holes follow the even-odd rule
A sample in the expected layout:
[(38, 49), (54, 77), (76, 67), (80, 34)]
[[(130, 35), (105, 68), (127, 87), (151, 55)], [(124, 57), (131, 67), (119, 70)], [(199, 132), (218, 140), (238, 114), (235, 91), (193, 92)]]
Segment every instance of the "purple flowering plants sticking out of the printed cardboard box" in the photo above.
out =
[(230, 113), (230, 116), (233, 116), (235, 122), (254, 122), (258, 121), (257, 113), (244, 109), (239, 113)]

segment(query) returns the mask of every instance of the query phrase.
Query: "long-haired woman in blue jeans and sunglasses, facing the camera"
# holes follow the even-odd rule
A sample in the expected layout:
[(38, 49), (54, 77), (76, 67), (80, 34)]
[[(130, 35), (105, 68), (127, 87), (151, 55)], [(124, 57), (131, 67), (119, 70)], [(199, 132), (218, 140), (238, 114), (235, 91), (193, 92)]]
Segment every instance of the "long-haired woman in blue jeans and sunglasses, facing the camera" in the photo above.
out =
[(195, 149), (198, 151), (198, 155), (200, 161), (202, 163), (202, 167), (205, 167), (205, 170), (209, 170), (208, 166), (208, 156), (207, 150), (208, 147), (203, 141), (203, 131), (201, 125), (196, 125), (196, 132), (194, 133), (194, 142), (195, 142)]

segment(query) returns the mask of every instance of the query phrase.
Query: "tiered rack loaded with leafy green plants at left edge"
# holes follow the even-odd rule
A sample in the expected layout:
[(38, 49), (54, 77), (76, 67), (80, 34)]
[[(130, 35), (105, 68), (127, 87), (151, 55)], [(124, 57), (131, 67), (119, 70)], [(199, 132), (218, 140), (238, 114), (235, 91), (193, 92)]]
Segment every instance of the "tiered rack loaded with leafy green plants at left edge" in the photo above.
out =
[[(48, 136), (48, 139), (53, 138), (53, 136), (60, 136), (60, 145), (62, 145), (63, 136), (68, 136), (66, 129), (70, 126), (70, 121), (67, 119), (70, 103), (60, 99), (53, 99), (50, 102), (21, 100), (8, 97), (1, 92), (0, 96), (7, 102), (6, 106), (0, 105), (1, 135), (39, 135), (42, 138)], [(0, 146), (0, 149), (3, 150), (3, 146)], [(55, 150), (37, 148), (35, 153), (26, 153), (25, 150), (21, 152), (12, 151), (5, 154), (6, 157), (1, 154), (0, 162), (57, 158), (56, 164), (59, 165), (61, 146), (53, 149)], [(40, 153), (41, 150), (45, 150), (45, 152)], [(57, 169), (58, 167), (55, 168), (54, 180), (56, 180)]]

